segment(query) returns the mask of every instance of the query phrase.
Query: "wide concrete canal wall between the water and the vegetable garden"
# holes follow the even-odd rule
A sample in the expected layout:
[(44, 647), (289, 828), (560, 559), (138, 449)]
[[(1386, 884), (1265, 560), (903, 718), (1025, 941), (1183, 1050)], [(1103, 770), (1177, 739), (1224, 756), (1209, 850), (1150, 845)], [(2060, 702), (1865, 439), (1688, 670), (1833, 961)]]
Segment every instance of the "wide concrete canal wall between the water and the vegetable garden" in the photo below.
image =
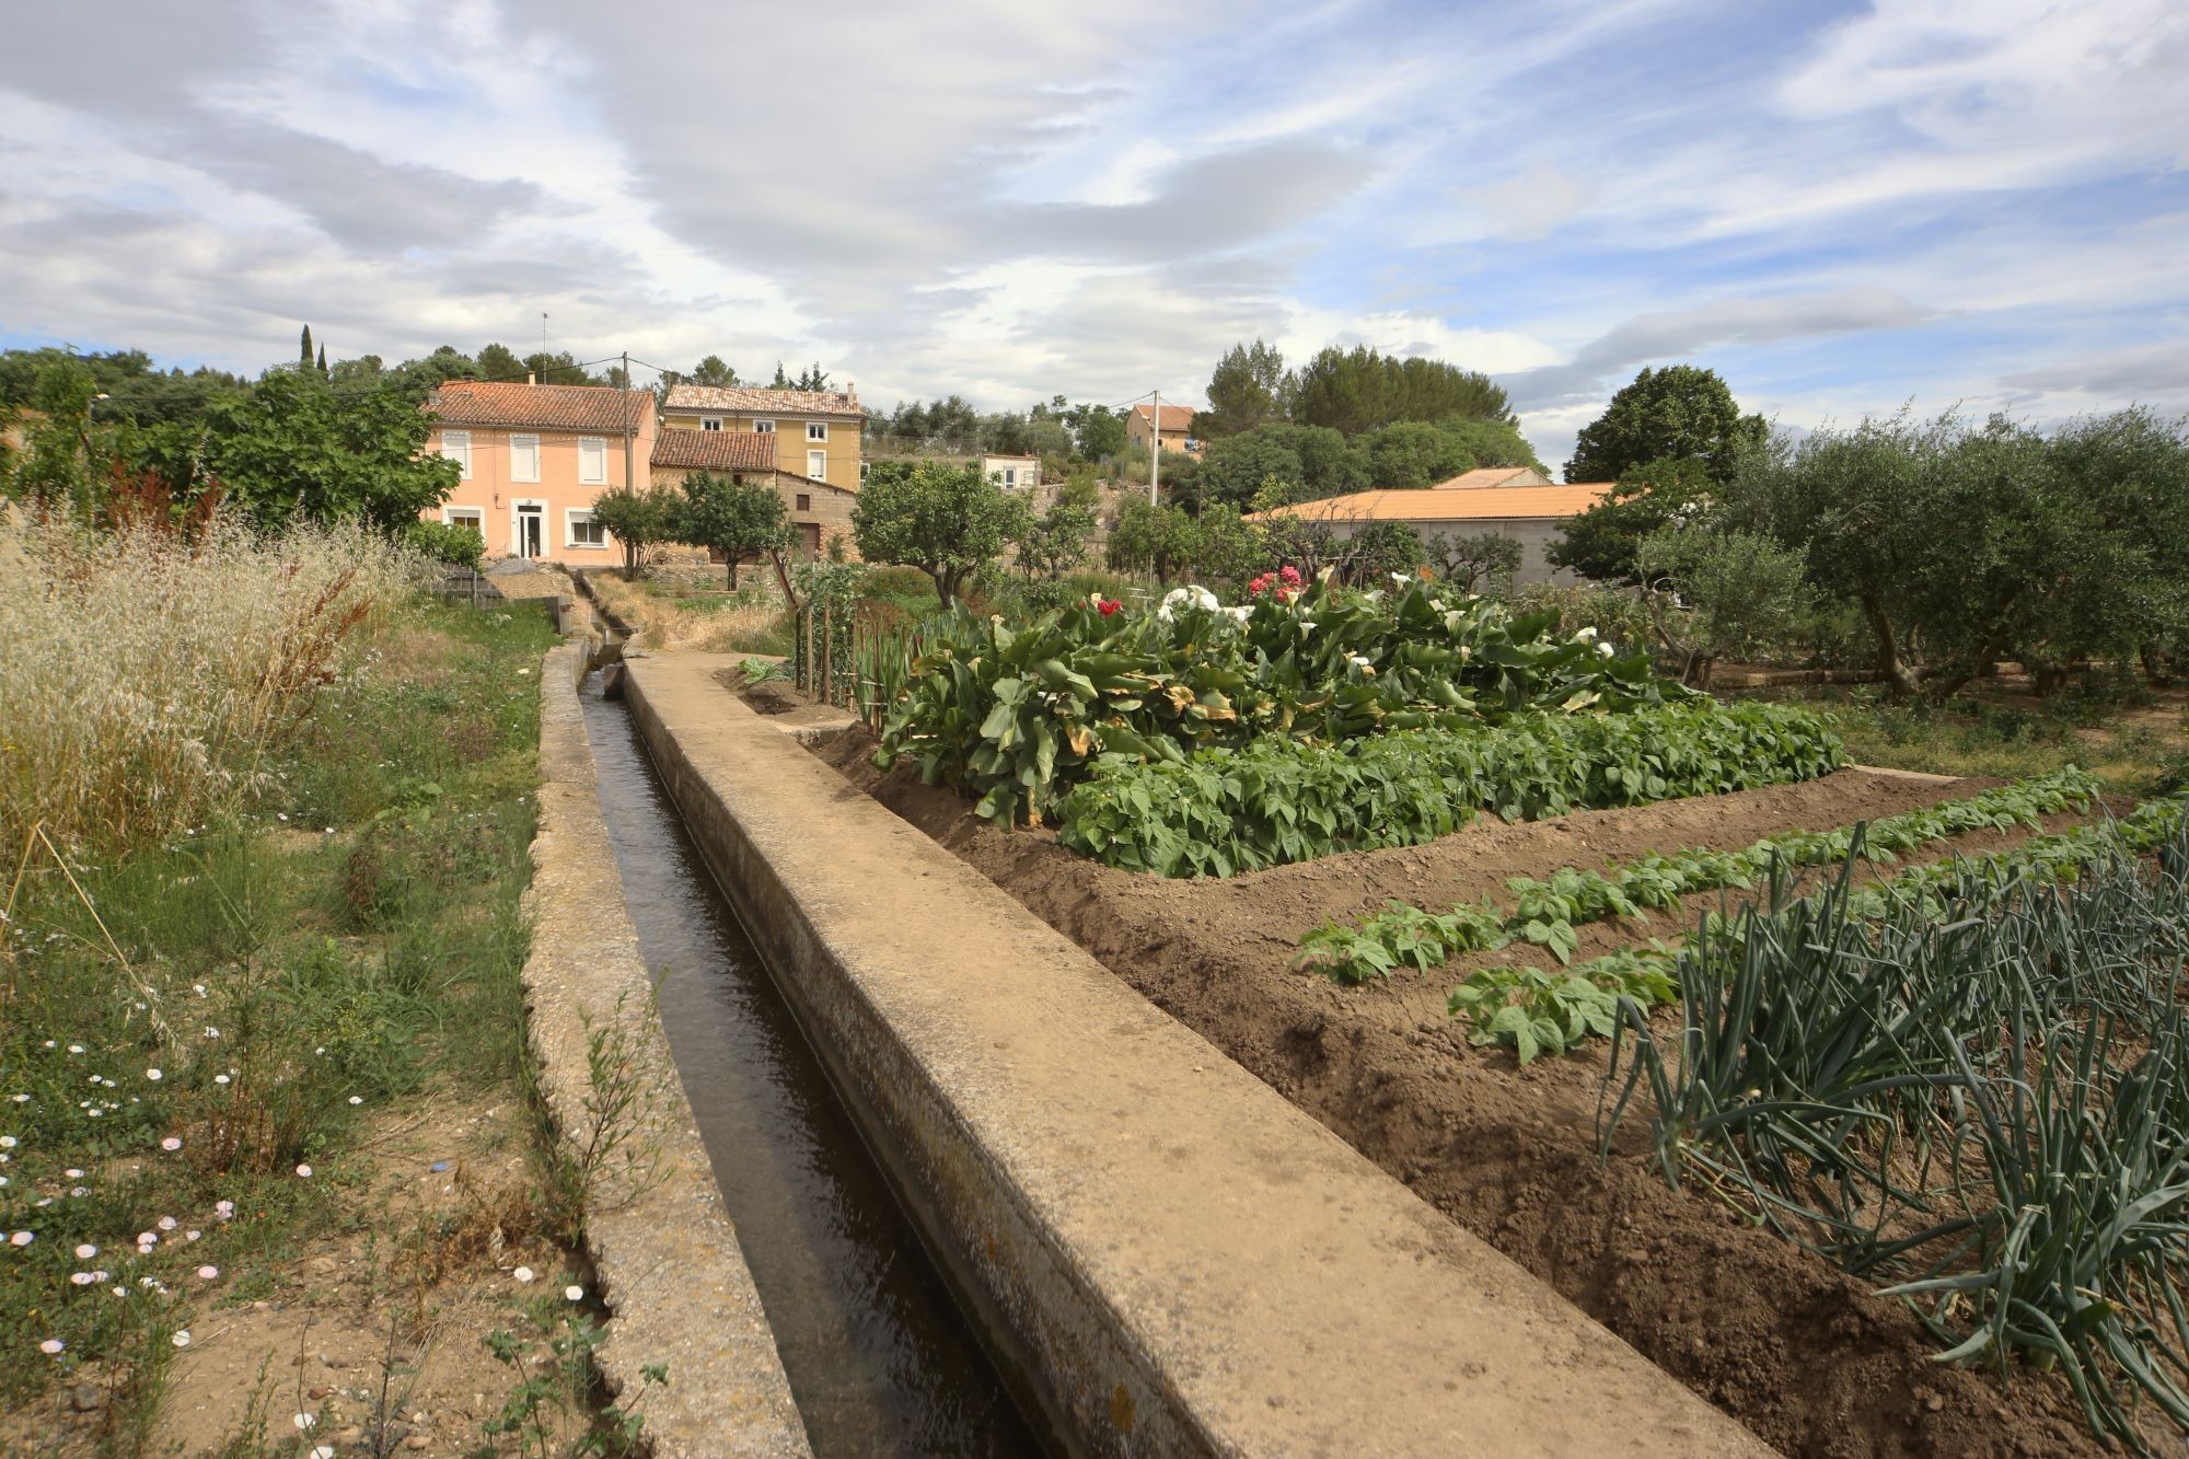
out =
[(633, 716), (1066, 1448), (1769, 1452), (768, 727), (729, 662), (633, 659)]

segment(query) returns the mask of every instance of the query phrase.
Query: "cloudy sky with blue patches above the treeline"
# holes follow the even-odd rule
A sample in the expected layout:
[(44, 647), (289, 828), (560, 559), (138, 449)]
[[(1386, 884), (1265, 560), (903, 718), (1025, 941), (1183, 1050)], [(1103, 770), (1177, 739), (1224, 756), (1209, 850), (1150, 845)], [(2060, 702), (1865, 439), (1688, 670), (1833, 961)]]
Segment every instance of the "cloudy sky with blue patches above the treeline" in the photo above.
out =
[(103, 0), (0, 46), (0, 346), (545, 313), (1000, 410), (1373, 344), (1556, 467), (1672, 361), (1791, 429), (2189, 412), (2185, 162), (2180, 0)]

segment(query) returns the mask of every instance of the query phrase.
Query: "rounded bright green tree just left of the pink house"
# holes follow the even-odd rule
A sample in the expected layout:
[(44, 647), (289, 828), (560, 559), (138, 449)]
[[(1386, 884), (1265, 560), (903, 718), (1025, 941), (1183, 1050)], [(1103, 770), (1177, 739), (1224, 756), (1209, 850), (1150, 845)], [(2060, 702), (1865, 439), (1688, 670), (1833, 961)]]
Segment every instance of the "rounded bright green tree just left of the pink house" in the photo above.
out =
[(267, 370), (206, 407), (169, 480), (177, 495), (219, 482), (267, 526), (357, 519), (401, 532), (455, 489), (458, 464), (425, 453), (431, 425), (394, 381), (335, 392), (315, 370)]

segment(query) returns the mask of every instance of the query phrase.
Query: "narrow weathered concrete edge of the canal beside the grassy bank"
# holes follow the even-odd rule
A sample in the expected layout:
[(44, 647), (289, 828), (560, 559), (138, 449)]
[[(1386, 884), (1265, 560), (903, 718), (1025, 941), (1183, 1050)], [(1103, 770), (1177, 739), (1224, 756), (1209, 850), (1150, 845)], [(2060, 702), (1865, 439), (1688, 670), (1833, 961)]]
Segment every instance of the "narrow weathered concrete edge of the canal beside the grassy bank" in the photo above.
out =
[(591, 1030), (619, 1025), (619, 1054), (637, 1060), (652, 1089), (639, 1133), (657, 1161), (650, 1181), (635, 1192), (611, 1185), (587, 1211), (587, 1247), (611, 1308), (595, 1358), (626, 1404), (646, 1391), (644, 1367), (668, 1365), (668, 1382), (646, 1391), (639, 1409), (663, 1459), (810, 1455), (624, 907), (578, 703), (584, 673), (582, 644), (547, 651), (541, 670), (541, 817), (523, 981), (560, 1139), (591, 1119)]

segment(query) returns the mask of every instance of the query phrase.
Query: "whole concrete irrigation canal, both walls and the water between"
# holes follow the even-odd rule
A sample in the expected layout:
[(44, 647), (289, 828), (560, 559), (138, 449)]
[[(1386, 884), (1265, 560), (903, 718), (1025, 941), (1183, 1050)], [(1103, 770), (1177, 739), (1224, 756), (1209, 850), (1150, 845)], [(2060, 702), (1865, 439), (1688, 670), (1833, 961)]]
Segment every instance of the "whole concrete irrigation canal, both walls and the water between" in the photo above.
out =
[(584, 1117), (604, 1016), (665, 1073), (668, 1179), (589, 1220), (611, 1387), (670, 1365), (655, 1452), (1769, 1452), (849, 786), (731, 666), (633, 655), (619, 705), (571, 644), (543, 686), (549, 1104)]

